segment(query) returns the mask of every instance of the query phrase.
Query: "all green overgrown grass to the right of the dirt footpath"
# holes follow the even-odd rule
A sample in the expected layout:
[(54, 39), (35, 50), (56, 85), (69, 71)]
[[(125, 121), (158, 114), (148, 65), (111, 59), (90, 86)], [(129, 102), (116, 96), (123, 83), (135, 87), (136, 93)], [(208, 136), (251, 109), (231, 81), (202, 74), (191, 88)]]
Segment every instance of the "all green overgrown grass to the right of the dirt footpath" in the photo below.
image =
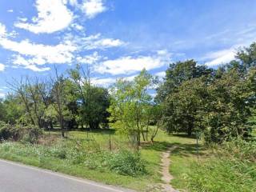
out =
[(256, 191), (256, 146), (254, 142), (227, 142), (209, 148), (194, 140), (179, 139), (171, 156), (171, 182), (181, 191)]

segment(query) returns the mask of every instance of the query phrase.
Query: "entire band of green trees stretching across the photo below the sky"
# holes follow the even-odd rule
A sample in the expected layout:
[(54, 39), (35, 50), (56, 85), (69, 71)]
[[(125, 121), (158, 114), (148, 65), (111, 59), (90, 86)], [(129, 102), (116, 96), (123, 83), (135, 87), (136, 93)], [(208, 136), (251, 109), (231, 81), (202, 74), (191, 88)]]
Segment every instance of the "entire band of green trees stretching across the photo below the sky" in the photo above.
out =
[(77, 66), (65, 75), (55, 69), (45, 81), (23, 78), (9, 86), (0, 121), (60, 126), (62, 137), (65, 130), (110, 126), (137, 146), (141, 139), (153, 142), (158, 129), (201, 135), (206, 142), (249, 139), (256, 121), (256, 43), (218, 69), (194, 60), (172, 63), (163, 82), (142, 70), (106, 89), (92, 85), (90, 71)]

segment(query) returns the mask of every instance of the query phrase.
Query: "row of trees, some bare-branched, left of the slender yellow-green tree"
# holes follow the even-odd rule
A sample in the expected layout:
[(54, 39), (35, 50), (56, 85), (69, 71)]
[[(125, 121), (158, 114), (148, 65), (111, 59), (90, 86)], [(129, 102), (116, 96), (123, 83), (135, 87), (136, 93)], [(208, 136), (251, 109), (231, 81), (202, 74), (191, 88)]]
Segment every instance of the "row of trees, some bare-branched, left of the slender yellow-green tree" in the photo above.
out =
[(11, 94), (0, 102), (0, 120), (9, 124), (34, 125), (52, 130), (106, 127), (110, 106), (108, 90), (93, 86), (88, 71), (77, 66), (67, 75), (47, 80), (22, 78), (8, 82)]

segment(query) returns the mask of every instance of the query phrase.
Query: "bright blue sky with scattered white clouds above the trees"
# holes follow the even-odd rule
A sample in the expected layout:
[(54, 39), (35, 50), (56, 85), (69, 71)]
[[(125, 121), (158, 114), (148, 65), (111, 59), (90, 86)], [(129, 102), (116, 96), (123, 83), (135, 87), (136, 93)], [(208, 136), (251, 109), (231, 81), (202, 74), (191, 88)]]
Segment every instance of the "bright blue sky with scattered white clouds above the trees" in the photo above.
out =
[(0, 1), (0, 97), (8, 82), (76, 64), (109, 86), (194, 58), (218, 67), (256, 40), (254, 0)]

